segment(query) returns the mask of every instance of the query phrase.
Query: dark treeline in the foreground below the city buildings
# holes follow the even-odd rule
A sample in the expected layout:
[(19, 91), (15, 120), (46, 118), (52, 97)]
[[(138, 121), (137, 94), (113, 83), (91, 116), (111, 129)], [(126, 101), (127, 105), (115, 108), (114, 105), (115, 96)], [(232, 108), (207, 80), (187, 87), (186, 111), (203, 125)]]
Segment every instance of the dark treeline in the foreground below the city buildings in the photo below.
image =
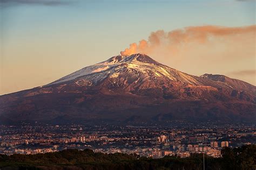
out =
[[(256, 145), (224, 148), (222, 158), (205, 155), (205, 169), (256, 169)], [(104, 154), (92, 150), (65, 150), (45, 154), (0, 154), (0, 169), (203, 169), (203, 154), (189, 158), (166, 156), (161, 159), (136, 154)]]

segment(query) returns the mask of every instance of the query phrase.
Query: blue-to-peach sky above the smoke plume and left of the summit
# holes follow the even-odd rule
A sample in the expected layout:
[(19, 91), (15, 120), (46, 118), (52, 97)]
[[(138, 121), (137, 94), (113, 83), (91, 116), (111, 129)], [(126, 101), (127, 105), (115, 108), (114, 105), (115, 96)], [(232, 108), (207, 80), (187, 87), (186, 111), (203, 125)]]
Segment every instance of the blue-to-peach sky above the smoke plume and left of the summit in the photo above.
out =
[(255, 1), (0, 2), (0, 95), (118, 55), (152, 31), (255, 24)]

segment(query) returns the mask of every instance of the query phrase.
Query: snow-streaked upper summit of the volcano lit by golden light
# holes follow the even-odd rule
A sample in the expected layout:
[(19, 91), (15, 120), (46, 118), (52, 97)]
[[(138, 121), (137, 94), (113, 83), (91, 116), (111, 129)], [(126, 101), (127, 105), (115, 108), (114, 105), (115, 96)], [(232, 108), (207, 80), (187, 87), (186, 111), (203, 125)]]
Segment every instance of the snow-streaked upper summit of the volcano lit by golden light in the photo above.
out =
[[(106, 77), (117, 77), (117, 75), (124, 72), (130, 72), (130, 74), (133, 72), (133, 74), (136, 74), (137, 77), (140, 75), (143, 78), (165, 77), (172, 81), (180, 81), (195, 85), (200, 84), (200, 82), (194, 79), (193, 76), (162, 65), (161, 63), (150, 58), (150, 56), (145, 54), (132, 54), (126, 56), (113, 56), (106, 61), (82, 68), (77, 72), (64, 76), (48, 85), (62, 83), (82, 77), (84, 79), (91, 80), (94, 83), (98, 83), (104, 80)], [(142, 77), (138, 77), (138, 79)]]

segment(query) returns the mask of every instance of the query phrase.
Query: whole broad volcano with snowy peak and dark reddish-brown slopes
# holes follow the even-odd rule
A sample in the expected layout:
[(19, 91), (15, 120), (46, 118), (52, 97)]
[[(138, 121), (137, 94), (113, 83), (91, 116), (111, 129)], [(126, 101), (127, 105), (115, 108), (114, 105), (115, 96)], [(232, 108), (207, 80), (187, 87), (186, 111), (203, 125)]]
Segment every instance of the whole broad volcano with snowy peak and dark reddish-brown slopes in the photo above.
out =
[(256, 87), (117, 55), (45, 86), (0, 96), (1, 124), (256, 122)]

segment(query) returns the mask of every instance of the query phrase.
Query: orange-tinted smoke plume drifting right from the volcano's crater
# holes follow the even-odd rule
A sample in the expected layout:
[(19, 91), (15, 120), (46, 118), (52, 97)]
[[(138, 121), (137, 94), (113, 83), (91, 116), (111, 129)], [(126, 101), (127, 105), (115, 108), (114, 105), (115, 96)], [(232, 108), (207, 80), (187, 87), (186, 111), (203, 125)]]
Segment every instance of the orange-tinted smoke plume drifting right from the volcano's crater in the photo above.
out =
[(192, 43), (206, 44), (217, 39), (225, 41), (230, 36), (239, 37), (247, 33), (253, 33), (255, 38), (255, 31), (256, 25), (246, 27), (191, 26), (170, 32), (159, 30), (152, 32), (147, 41), (143, 39), (138, 44), (130, 44), (130, 48), (122, 51), (121, 55), (131, 55), (134, 53), (150, 55), (158, 51), (158, 49), (164, 49), (169, 54), (175, 54), (181, 46)]

